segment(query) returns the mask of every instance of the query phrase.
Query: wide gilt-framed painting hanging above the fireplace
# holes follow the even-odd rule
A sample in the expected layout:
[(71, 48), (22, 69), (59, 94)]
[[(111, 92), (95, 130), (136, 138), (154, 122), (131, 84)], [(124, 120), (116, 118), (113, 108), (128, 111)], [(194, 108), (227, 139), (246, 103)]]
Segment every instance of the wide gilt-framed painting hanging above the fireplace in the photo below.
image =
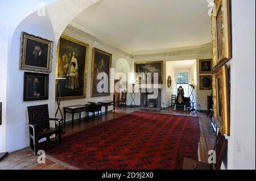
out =
[(135, 62), (134, 71), (137, 73), (136, 83), (147, 83), (147, 73), (151, 73), (151, 83), (154, 83), (154, 73), (158, 73), (158, 82), (155, 83), (163, 83), (163, 61)]

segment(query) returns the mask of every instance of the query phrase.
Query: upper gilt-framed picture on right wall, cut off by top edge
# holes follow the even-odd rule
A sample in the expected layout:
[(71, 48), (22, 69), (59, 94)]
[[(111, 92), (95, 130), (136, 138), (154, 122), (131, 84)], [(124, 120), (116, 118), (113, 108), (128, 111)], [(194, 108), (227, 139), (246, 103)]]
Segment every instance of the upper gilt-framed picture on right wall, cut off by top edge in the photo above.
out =
[(232, 58), (230, 0), (215, 0), (212, 15), (213, 67), (216, 69)]

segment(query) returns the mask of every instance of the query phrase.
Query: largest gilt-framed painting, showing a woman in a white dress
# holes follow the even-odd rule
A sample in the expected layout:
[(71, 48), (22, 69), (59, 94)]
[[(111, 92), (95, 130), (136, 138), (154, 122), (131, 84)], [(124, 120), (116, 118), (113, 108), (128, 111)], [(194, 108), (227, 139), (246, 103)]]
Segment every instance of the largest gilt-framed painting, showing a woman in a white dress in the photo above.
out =
[(86, 98), (88, 51), (88, 44), (67, 36), (60, 37), (56, 77), (65, 78), (59, 82), (62, 100)]

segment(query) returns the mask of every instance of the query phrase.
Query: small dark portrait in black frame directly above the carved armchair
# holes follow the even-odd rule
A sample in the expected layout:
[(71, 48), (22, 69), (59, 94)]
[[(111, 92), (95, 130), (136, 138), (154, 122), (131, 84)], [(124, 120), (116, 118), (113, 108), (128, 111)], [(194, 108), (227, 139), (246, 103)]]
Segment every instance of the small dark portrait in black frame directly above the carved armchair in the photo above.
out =
[(23, 101), (48, 100), (48, 86), (48, 74), (25, 72)]

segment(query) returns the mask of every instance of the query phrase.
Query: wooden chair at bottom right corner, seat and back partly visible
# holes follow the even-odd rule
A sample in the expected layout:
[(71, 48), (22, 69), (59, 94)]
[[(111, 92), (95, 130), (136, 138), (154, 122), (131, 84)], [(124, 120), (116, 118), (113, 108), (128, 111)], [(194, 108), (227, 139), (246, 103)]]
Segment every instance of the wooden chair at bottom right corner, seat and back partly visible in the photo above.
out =
[(184, 158), (183, 170), (220, 170), (228, 140), (219, 132), (214, 145), (216, 151), (216, 163), (203, 163), (195, 159)]

